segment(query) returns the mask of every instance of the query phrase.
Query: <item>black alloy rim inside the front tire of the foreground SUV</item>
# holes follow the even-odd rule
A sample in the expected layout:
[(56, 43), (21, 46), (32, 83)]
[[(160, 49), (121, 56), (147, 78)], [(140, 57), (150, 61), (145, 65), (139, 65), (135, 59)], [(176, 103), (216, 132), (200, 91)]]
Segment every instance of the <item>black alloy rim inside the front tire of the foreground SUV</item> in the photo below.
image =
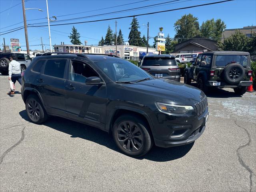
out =
[(130, 152), (137, 152), (144, 144), (142, 131), (131, 121), (121, 122), (117, 127), (119, 144)]

